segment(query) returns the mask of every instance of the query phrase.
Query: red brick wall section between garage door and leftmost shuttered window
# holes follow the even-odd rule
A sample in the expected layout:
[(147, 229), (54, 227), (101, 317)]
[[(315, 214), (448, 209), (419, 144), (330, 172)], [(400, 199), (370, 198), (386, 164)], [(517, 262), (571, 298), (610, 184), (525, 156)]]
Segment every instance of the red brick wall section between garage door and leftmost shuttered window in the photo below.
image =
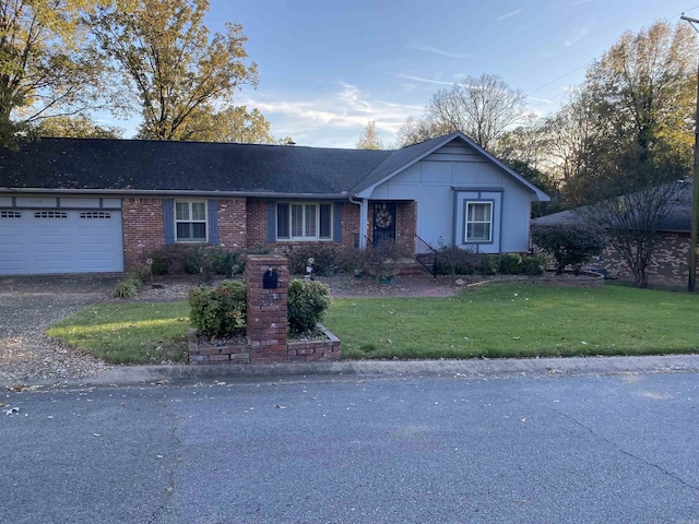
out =
[(121, 202), (126, 271), (146, 266), (147, 254), (163, 246), (163, 199), (128, 198)]

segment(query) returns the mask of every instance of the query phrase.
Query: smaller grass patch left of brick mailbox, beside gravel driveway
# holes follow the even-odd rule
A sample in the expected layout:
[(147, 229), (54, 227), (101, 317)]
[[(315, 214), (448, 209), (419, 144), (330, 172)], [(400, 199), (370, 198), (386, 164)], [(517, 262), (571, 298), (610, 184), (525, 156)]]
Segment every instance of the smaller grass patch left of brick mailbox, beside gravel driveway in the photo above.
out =
[(188, 302), (98, 303), (51, 325), (47, 334), (109, 364), (183, 361)]

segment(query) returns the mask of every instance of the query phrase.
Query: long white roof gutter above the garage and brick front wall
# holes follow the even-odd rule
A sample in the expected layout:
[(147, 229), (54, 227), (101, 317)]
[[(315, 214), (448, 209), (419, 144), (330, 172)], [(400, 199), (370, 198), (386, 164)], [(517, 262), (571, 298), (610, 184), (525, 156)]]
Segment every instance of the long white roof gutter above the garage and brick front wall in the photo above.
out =
[(0, 188), (0, 193), (26, 194), (108, 194), (114, 196), (216, 196), (216, 198), (254, 198), (254, 199), (312, 199), (312, 200), (345, 200), (347, 193), (283, 193), (283, 192), (252, 192), (252, 191), (199, 191), (192, 190), (158, 190), (158, 189), (42, 189), (42, 188)]

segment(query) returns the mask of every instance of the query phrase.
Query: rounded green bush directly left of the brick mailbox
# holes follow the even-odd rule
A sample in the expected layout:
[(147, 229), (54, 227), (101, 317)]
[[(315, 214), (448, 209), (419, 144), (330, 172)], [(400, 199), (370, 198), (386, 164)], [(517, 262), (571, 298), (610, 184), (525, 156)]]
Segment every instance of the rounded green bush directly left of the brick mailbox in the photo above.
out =
[(246, 287), (241, 282), (224, 281), (215, 288), (191, 289), (189, 305), (191, 323), (204, 335), (225, 336), (246, 325)]

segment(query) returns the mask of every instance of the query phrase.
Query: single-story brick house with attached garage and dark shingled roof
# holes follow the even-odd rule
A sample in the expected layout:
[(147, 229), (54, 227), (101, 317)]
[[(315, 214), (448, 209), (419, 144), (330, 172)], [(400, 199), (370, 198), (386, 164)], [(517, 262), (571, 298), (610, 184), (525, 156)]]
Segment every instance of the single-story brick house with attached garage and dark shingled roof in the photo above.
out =
[(460, 132), (396, 151), (43, 139), (0, 152), (0, 274), (131, 271), (173, 243), (526, 251), (546, 200)]

